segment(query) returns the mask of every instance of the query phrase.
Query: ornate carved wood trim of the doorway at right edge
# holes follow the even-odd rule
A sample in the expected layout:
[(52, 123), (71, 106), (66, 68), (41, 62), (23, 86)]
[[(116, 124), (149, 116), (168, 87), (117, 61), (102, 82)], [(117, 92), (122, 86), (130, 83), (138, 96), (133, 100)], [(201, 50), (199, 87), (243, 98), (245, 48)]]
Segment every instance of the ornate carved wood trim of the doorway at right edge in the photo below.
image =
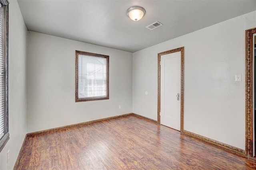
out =
[(253, 157), (253, 34), (256, 28), (245, 31), (245, 154)]

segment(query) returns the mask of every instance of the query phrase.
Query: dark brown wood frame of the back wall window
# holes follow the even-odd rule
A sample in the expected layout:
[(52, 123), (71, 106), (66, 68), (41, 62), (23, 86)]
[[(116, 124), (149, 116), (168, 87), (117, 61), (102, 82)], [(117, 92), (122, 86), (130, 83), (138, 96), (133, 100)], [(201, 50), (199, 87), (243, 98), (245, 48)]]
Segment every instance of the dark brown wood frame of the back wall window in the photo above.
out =
[[(78, 98), (78, 57), (79, 55), (85, 55), (90, 57), (100, 57), (106, 59), (106, 96), (103, 97), (89, 97), (89, 98)], [(85, 51), (76, 50), (76, 90), (75, 90), (75, 101), (76, 102), (86, 102), (86, 101), (94, 101), (94, 100), (108, 100), (109, 99), (109, 56), (101, 55), (96, 53), (89, 53)]]

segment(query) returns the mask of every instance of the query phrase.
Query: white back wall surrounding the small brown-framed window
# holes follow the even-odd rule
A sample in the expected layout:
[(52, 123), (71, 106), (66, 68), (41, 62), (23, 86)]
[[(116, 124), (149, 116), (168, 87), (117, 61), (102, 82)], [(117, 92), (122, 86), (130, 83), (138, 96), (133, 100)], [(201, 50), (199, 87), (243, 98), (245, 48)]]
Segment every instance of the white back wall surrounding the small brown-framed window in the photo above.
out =
[[(110, 56), (109, 100), (75, 102), (75, 50)], [(28, 132), (131, 112), (132, 53), (29, 31)]]

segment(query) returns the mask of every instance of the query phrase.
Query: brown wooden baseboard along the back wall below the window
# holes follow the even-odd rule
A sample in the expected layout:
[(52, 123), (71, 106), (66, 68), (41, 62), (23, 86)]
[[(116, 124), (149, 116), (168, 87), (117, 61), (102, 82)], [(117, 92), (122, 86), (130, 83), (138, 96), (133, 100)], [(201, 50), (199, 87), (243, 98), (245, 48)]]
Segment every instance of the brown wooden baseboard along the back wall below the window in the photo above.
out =
[(53, 131), (67, 129), (67, 128), (70, 128), (70, 127), (76, 127), (76, 126), (81, 126), (81, 125), (89, 125), (89, 124), (92, 124), (92, 123), (97, 123), (97, 122), (101, 122), (101, 121), (116, 119), (116, 118), (119, 118), (119, 117), (130, 116), (130, 115), (134, 115), (134, 113), (127, 113), (127, 114), (124, 114), (124, 115), (107, 117), (107, 118), (103, 118), (103, 119), (97, 119), (97, 120), (93, 120), (93, 121), (87, 121), (87, 122), (83, 122), (83, 123), (77, 123), (77, 124), (73, 124), (73, 125), (67, 125), (67, 126), (47, 129), (47, 130), (43, 130), (43, 131), (32, 132), (32, 133), (28, 133), (27, 136), (30, 137), (30, 136), (34, 136), (34, 135), (41, 135), (41, 134), (44, 134), (44, 133), (49, 133), (49, 132), (53, 132)]

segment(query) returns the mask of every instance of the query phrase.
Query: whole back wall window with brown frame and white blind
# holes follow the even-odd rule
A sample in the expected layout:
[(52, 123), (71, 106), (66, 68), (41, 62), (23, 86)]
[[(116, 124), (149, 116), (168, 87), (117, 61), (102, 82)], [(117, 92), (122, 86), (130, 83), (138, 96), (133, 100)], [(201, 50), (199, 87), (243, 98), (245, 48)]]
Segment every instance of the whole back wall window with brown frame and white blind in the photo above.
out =
[(76, 51), (76, 102), (109, 99), (109, 56)]

